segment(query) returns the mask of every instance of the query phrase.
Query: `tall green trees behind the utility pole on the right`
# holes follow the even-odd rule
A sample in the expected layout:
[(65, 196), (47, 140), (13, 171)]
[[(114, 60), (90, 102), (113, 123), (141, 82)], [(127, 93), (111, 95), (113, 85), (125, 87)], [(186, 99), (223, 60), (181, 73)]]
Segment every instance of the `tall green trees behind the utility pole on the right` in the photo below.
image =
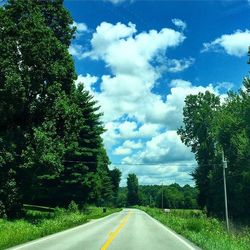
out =
[(192, 175), (199, 190), (198, 204), (208, 214), (224, 216), (222, 154), (226, 169), (228, 209), (233, 219), (250, 214), (250, 79), (230, 91), (225, 100), (213, 93), (189, 95), (183, 109), (182, 142), (191, 147), (198, 167)]

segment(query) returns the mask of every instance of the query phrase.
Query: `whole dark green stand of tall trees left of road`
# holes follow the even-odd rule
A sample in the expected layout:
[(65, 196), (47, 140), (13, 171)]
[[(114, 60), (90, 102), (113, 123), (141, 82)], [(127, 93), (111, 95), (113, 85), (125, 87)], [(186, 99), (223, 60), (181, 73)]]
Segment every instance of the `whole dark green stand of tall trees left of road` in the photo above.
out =
[(0, 217), (24, 203), (113, 204), (121, 173), (108, 168), (100, 107), (74, 83), (63, 0), (9, 0), (0, 20)]

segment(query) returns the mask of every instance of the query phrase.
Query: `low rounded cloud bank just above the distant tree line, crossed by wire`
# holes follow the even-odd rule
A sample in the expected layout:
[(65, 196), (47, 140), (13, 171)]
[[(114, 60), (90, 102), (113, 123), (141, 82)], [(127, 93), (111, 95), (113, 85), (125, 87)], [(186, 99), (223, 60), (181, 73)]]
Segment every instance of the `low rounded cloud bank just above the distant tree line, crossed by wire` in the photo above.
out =
[(141, 151), (123, 158), (122, 163), (124, 165), (119, 166), (123, 173), (122, 185), (129, 173), (135, 173), (144, 185), (162, 182), (192, 185), (190, 173), (196, 166), (194, 155), (182, 144), (176, 131), (153, 137)]

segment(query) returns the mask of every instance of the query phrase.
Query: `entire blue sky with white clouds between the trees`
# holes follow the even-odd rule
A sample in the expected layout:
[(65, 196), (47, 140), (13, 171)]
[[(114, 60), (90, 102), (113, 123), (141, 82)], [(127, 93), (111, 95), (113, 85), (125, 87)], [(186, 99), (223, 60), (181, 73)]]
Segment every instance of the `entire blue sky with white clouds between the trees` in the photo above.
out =
[(194, 185), (194, 154), (177, 135), (185, 97), (221, 99), (248, 75), (250, 1), (66, 0), (78, 79), (103, 112), (121, 185)]

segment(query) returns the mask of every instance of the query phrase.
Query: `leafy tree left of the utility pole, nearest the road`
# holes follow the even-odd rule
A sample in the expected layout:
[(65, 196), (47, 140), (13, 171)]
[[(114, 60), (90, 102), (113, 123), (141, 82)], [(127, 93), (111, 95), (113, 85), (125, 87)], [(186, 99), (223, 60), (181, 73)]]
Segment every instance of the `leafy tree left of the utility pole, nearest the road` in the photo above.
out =
[(184, 127), (178, 130), (182, 142), (190, 146), (195, 153), (198, 167), (193, 177), (199, 189), (198, 203), (201, 207), (207, 206), (210, 212), (209, 189), (210, 174), (213, 166), (218, 162), (214, 154), (213, 121), (216, 111), (220, 108), (220, 99), (206, 91), (204, 94), (189, 95), (185, 99), (183, 109)]

